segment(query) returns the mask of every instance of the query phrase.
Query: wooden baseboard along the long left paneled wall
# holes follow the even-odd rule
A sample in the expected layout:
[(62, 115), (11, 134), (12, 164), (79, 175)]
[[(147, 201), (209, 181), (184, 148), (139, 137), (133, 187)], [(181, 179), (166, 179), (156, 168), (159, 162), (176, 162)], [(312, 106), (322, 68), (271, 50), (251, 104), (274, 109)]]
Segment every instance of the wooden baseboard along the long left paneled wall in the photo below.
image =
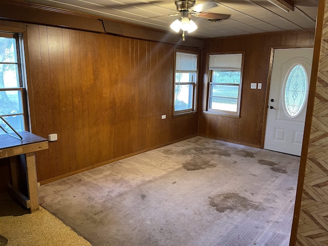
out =
[(179, 142), (179, 141), (186, 140), (186, 139), (196, 137), (196, 136), (198, 136), (198, 134), (194, 134), (194, 135), (191, 135), (191, 136), (188, 136), (188, 137), (179, 138), (177, 140), (166, 142), (165, 144), (156, 145), (154, 147), (150, 147), (150, 148), (147, 148), (147, 149), (144, 149), (144, 150), (139, 150), (139, 151), (133, 152), (131, 154), (127, 154), (127, 155), (123, 155), (123, 156), (120, 156), (120, 157), (116, 157), (114, 159), (110, 159), (108, 161), (103, 161), (103, 162), (97, 163), (95, 165), (86, 167), (86, 168), (82, 168), (82, 169), (78, 169), (78, 170), (75, 170), (75, 171), (72, 171), (72, 172), (69, 172), (69, 173), (61, 174), (61, 175), (53, 177), (53, 178), (48, 178), (48, 179), (39, 181), (39, 183), (40, 183), (40, 186), (43, 186), (43, 185), (46, 185), (47, 183), (51, 183), (51, 182), (57, 181), (59, 179), (67, 178), (69, 176), (72, 176), (72, 175), (75, 175), (75, 174), (78, 174), (78, 173), (82, 173), (82, 172), (85, 172), (85, 171), (88, 171), (88, 170), (91, 170), (91, 169), (94, 169), (94, 168), (98, 168), (98, 167), (110, 164), (110, 163), (118, 161), (118, 160), (122, 160), (122, 159), (125, 159), (125, 158), (128, 158), (128, 157), (134, 156), (134, 155), (145, 153), (145, 152), (150, 151), (150, 150), (155, 150), (155, 149), (158, 149), (160, 147), (171, 145), (171, 144), (174, 144), (175, 142)]

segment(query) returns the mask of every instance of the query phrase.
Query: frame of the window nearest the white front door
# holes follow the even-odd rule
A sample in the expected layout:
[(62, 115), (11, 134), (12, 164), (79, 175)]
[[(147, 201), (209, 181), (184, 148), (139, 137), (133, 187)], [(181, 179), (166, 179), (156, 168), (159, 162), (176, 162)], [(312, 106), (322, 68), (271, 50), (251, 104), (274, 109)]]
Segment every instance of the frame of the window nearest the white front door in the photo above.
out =
[[(241, 54), (241, 66), (240, 66), (240, 81), (238, 84), (227, 84), (227, 83), (213, 83), (213, 72), (220, 70), (210, 70), (210, 55), (226, 55), (226, 54)], [(233, 51), (233, 52), (209, 52), (207, 53), (207, 99), (206, 99), (206, 110), (204, 113), (216, 114), (227, 117), (240, 117), (240, 105), (241, 105), (241, 91), (242, 91), (242, 78), (243, 78), (243, 64), (244, 64), (244, 51)], [(218, 110), (210, 108), (211, 98), (213, 97), (213, 85), (226, 85), (226, 86), (238, 86), (238, 98), (237, 98), (237, 111)]]

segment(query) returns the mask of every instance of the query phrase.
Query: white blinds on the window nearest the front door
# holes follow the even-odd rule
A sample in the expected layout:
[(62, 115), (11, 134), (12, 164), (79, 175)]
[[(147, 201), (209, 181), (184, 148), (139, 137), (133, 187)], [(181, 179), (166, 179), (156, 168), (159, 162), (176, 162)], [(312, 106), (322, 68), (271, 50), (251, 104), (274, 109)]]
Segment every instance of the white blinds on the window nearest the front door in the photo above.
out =
[(242, 54), (210, 55), (209, 70), (240, 71)]

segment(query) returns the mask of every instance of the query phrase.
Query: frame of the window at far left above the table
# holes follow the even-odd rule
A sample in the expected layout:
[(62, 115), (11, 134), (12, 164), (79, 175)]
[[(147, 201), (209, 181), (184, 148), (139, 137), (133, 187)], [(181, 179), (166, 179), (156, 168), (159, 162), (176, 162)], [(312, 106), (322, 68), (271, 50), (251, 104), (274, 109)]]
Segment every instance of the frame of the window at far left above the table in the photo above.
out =
[[(17, 63), (6, 63), (1, 62), (0, 64), (15, 64), (17, 65), (18, 72), (18, 80), (19, 87), (10, 87), (10, 88), (0, 88), (0, 91), (19, 91), (20, 92), (20, 103), (22, 104), (22, 112), (20, 113), (12, 113), (12, 114), (0, 114), (3, 117), (7, 116), (16, 116), (22, 115), (24, 126), (22, 131), (30, 130), (30, 120), (29, 120), (29, 108), (28, 108), (28, 96), (26, 89), (26, 68), (25, 68), (25, 51), (24, 51), (24, 39), (23, 32), (13, 32), (8, 30), (2, 30), (0, 27), (0, 37), (11, 37), (16, 39), (16, 55), (17, 55)], [(25, 31), (25, 30), (24, 30)], [(6, 118), (5, 118), (6, 119)], [(17, 130), (17, 129), (15, 129)], [(2, 133), (0, 133), (2, 134)]]

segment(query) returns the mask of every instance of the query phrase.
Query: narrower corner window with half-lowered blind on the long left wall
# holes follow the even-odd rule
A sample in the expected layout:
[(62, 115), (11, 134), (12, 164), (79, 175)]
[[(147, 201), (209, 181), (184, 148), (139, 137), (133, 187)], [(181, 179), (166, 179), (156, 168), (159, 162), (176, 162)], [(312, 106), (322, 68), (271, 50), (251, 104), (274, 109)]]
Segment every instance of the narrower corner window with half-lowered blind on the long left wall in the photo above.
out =
[(176, 52), (174, 113), (196, 110), (197, 54)]

